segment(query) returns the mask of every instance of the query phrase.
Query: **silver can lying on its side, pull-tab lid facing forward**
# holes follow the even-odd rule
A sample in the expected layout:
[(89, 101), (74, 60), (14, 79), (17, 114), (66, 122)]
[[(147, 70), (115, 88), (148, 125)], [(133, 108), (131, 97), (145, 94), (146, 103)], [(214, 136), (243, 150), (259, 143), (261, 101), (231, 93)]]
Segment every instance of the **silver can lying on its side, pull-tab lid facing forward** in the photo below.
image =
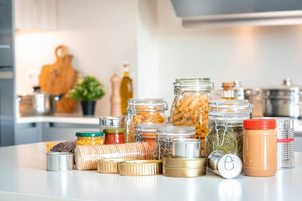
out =
[(208, 169), (226, 179), (236, 178), (242, 170), (242, 162), (234, 154), (223, 151), (213, 151), (207, 159)]

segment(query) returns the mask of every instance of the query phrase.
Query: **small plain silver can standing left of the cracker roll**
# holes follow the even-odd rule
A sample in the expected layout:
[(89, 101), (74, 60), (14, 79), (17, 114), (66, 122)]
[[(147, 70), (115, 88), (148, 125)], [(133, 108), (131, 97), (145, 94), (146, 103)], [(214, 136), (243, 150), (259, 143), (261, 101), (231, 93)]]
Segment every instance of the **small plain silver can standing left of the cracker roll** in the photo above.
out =
[(46, 154), (47, 171), (70, 171), (74, 169), (74, 153), (54, 152)]

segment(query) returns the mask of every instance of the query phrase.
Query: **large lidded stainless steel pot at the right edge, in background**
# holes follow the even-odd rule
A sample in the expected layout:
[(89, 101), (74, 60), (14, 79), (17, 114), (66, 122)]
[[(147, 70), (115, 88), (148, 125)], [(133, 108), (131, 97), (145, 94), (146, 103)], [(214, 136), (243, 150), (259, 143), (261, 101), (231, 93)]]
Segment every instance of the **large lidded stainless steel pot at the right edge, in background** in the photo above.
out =
[(302, 117), (302, 89), (293, 86), (290, 79), (281, 86), (263, 89), (263, 114), (265, 117)]

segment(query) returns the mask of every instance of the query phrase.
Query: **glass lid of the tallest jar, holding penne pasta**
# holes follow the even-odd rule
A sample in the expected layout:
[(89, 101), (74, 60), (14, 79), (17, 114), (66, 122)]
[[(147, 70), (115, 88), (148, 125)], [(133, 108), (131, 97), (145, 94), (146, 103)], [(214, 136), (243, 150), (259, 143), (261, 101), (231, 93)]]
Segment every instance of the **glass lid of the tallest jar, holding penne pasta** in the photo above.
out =
[(214, 83), (210, 81), (210, 78), (176, 79), (173, 85), (174, 92), (200, 92), (214, 89)]

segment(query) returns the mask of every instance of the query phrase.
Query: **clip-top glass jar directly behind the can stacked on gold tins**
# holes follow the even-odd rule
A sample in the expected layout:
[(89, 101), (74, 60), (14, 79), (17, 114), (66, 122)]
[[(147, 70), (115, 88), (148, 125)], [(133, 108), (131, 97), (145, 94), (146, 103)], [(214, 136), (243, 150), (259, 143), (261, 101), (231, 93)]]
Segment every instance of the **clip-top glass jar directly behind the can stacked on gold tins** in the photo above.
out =
[(172, 140), (176, 138), (195, 138), (195, 127), (192, 126), (165, 126), (158, 127), (156, 146), (153, 159), (161, 160), (163, 156), (172, 156)]

